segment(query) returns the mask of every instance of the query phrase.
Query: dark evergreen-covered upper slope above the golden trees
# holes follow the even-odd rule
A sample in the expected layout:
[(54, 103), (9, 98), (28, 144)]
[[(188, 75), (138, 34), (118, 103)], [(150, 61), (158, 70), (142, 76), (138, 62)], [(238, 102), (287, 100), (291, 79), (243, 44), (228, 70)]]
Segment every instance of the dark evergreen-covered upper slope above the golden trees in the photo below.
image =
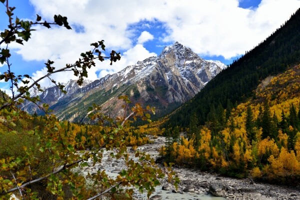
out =
[(164, 127), (187, 127), (193, 113), (203, 125), (211, 110), (218, 106), (228, 110), (249, 97), (255, 97), (253, 90), (261, 80), (298, 62), (299, 9), (283, 26), (209, 81), (198, 94), (170, 116)]

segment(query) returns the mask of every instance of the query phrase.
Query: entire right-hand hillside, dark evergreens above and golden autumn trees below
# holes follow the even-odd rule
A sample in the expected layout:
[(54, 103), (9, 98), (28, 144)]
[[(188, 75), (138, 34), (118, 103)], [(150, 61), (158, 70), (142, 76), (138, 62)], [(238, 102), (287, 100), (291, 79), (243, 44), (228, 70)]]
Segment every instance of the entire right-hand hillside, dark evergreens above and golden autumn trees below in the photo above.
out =
[[(300, 175), (300, 10), (162, 127), (178, 165), (295, 184)], [(179, 132), (186, 137), (179, 137)]]

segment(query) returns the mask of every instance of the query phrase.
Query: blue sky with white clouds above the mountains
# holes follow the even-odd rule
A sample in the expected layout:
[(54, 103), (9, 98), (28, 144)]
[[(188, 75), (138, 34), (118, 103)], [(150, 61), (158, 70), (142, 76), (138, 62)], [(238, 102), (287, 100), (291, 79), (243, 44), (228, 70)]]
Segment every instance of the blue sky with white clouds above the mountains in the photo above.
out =
[[(88, 50), (89, 43), (104, 39), (107, 52), (121, 52), (119, 62), (97, 63), (89, 79), (114, 73), (149, 56), (159, 55), (175, 41), (190, 47), (204, 59), (225, 64), (250, 50), (270, 35), (300, 7), (300, 0), (9, 0), (14, 16), (51, 21), (54, 14), (68, 17), (72, 30), (36, 27), (23, 46), (11, 44), (12, 70), (38, 78), (46, 73), (49, 58), (64, 66)], [(7, 27), (5, 7), (0, 4), (0, 30)], [(0, 46), (3, 48), (4, 46)], [(0, 72), (7, 66), (0, 67)], [(60, 82), (71, 74), (54, 76)], [(41, 82), (49, 85), (48, 80)], [(0, 82), (0, 88), (9, 85)]]

